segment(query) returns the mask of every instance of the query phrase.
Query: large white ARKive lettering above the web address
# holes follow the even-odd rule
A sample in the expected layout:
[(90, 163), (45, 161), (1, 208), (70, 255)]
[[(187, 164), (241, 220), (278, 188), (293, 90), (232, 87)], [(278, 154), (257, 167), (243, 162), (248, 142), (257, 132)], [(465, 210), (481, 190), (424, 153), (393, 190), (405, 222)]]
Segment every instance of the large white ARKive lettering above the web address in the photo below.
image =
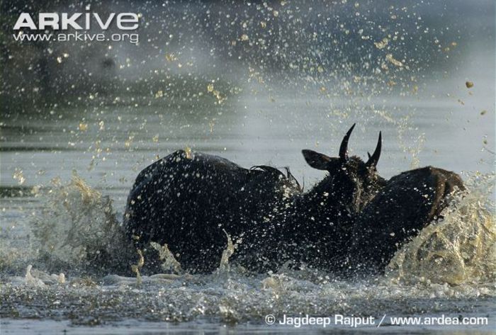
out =
[[(82, 21), (82, 22), (81, 22)], [(135, 30), (138, 27), (137, 13), (110, 13), (102, 18), (98, 13), (38, 13), (38, 25), (30, 13), (21, 13), (13, 30), (29, 28), (30, 30), (67, 30), (69, 26), (76, 30), (89, 30), (96, 24), (101, 30), (107, 30), (113, 22), (120, 30)]]

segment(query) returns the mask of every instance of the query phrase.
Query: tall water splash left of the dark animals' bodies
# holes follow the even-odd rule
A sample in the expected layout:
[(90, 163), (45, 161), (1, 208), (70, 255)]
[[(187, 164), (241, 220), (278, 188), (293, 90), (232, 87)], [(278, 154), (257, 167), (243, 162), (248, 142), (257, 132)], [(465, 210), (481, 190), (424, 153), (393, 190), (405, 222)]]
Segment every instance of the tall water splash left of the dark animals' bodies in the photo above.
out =
[(43, 210), (30, 224), (33, 246), (48, 265), (115, 267), (133, 252), (115, 218), (111, 199), (75, 173), (66, 185), (52, 182)]

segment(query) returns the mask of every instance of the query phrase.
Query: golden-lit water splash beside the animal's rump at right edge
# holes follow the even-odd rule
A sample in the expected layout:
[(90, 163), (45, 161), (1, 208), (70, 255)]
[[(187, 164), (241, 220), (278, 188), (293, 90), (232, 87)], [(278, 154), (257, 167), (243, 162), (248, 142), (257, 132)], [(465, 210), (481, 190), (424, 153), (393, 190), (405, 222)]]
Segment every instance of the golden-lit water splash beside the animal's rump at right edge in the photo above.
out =
[(495, 175), (473, 175), (432, 224), (390, 261), (387, 276), (403, 282), (490, 283), (496, 280)]

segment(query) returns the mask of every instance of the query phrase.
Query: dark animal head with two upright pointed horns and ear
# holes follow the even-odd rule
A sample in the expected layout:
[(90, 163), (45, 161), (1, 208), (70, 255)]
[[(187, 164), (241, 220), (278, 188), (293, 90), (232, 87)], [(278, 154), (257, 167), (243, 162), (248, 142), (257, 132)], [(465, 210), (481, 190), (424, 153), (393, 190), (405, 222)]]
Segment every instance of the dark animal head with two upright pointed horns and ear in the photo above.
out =
[(376, 193), (385, 186), (385, 180), (377, 174), (377, 163), (381, 157), (382, 135), (373, 154), (363, 161), (357, 156), (348, 156), (348, 142), (355, 125), (346, 132), (339, 147), (339, 157), (329, 157), (320, 152), (305, 149), (302, 151), (307, 163), (314, 169), (325, 170), (329, 175), (315, 188), (339, 199), (342, 205), (354, 211), (361, 210)]

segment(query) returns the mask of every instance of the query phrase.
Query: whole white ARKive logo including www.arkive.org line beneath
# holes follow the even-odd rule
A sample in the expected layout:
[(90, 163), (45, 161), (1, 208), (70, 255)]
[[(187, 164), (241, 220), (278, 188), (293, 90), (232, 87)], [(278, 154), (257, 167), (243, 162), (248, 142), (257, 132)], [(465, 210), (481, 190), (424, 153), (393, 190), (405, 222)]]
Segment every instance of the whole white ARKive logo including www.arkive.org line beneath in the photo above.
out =
[[(124, 42), (137, 44), (139, 35), (131, 33), (137, 30), (140, 21), (137, 13), (21, 13), (13, 30), (14, 40), (18, 42)], [(108, 33), (106, 30), (121, 30), (120, 33)], [(94, 30), (100, 33), (92, 33)], [(50, 32), (49, 30), (52, 30)], [(70, 32), (68, 31), (70, 30)], [(84, 30), (84, 31), (81, 31)]]

